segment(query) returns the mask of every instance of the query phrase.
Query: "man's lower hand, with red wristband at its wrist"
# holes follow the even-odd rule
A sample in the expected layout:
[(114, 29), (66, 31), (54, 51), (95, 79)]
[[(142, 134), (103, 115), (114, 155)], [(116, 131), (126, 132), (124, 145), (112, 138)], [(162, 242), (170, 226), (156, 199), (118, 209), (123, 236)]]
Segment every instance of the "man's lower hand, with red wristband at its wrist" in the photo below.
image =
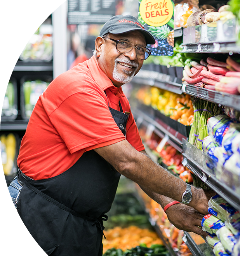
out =
[(195, 209), (183, 203), (177, 203), (170, 206), (166, 210), (167, 218), (176, 228), (187, 232), (194, 232), (198, 235), (207, 236), (207, 232), (203, 231), (201, 221), (204, 217)]

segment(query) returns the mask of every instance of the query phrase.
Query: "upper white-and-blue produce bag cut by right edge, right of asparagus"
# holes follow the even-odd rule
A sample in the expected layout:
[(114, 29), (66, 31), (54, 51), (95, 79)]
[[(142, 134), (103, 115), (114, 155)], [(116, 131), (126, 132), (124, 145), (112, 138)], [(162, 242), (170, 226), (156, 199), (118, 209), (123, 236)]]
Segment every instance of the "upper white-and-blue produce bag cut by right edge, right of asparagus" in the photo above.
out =
[[(240, 124), (230, 123), (228, 131), (223, 136), (222, 140), (222, 145), (229, 155), (233, 154), (232, 142), (238, 134), (240, 134)], [(238, 138), (240, 139), (240, 137)]]

